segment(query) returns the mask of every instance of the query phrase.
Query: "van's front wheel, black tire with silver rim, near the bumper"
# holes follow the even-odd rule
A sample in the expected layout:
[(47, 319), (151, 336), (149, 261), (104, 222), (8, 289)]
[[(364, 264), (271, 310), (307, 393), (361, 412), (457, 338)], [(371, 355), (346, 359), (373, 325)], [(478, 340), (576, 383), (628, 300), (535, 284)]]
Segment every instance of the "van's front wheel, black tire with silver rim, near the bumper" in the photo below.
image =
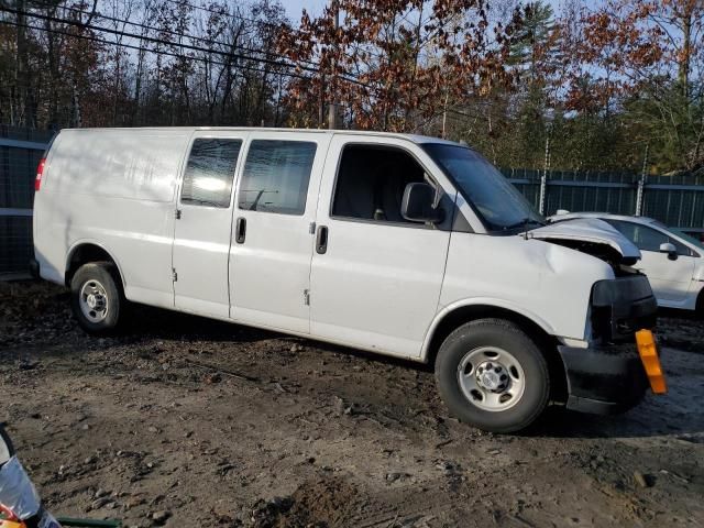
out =
[[(506, 356), (513, 356), (518, 365), (504, 365), (504, 370), (501, 370), (502, 366), (496, 364), (498, 360), (483, 355), (495, 352), (491, 349), (482, 352), (483, 348), (501, 349), (508, 353)], [(470, 353), (474, 355), (470, 356)], [(480, 364), (472, 364), (480, 361)], [(491, 361), (494, 361), (493, 365)], [(468, 370), (462, 371), (463, 375), (470, 376), (466, 374), (470, 372), (473, 376), (473, 381), (469, 382), (470, 385), (475, 383), (474, 380), (486, 381), (482, 377), (482, 373), (488, 371), (499, 372), (501, 378), (507, 380), (507, 382), (498, 382), (497, 376), (491, 374), (490, 382), (506, 384), (508, 388), (502, 392), (501, 388), (504, 385), (499, 385), (496, 391), (486, 391), (485, 386), (481, 386), (479, 394), (476, 394), (477, 391), (470, 391), (471, 395), (465, 396), (465, 391), (469, 391), (468, 383), (460, 382), (460, 369), (464, 362), (468, 362)], [(487, 369), (487, 365), (492, 367)], [(522, 370), (522, 375), (518, 375), (519, 371), (516, 366)], [(510, 373), (508, 373), (509, 370)], [(505, 376), (504, 373), (509, 375)], [(453, 331), (438, 352), (436, 382), (440, 396), (452, 415), (461, 421), (491, 432), (515, 432), (527, 428), (542, 414), (550, 396), (550, 374), (544, 356), (517, 324), (503, 319), (479, 319)], [(520, 394), (512, 395), (512, 386), (516, 392), (522, 386)], [(484, 395), (488, 395), (486, 404), (484, 404)], [(497, 404), (495, 410), (482, 408), (482, 405), (488, 405), (492, 397), (499, 400), (506, 399), (506, 402)], [(512, 400), (514, 397), (516, 399)]]

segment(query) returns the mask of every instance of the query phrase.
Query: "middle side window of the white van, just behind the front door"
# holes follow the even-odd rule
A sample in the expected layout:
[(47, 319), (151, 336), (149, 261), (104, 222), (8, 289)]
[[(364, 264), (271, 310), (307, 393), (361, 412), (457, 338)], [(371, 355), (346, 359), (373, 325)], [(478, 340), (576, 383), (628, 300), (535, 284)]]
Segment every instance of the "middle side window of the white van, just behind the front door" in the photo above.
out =
[(316, 148), (316, 143), (302, 141), (252, 141), (240, 184), (240, 209), (302, 215)]

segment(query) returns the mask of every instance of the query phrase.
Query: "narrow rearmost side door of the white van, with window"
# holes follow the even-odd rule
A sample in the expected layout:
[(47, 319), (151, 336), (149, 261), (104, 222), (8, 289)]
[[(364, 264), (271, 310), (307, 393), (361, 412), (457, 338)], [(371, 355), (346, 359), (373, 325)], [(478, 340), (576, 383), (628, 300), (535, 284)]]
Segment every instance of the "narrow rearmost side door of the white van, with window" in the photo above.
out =
[(232, 189), (245, 133), (197, 132), (184, 167), (174, 230), (174, 306), (229, 317)]

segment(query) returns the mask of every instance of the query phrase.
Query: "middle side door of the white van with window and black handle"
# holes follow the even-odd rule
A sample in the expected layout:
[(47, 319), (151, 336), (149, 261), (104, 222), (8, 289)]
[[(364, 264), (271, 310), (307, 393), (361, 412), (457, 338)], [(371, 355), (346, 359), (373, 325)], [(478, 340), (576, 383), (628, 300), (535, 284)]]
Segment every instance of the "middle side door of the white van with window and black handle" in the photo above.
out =
[(317, 133), (251, 133), (234, 210), (232, 319), (309, 331), (311, 228), (329, 141)]

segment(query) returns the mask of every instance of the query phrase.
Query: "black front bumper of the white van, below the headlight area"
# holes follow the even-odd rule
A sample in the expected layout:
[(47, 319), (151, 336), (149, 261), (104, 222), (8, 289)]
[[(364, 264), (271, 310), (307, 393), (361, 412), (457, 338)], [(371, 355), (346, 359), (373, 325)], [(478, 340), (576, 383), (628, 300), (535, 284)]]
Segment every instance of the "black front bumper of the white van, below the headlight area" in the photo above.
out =
[(649, 386), (634, 343), (588, 349), (558, 346), (568, 382), (569, 409), (598, 415), (624, 413)]

